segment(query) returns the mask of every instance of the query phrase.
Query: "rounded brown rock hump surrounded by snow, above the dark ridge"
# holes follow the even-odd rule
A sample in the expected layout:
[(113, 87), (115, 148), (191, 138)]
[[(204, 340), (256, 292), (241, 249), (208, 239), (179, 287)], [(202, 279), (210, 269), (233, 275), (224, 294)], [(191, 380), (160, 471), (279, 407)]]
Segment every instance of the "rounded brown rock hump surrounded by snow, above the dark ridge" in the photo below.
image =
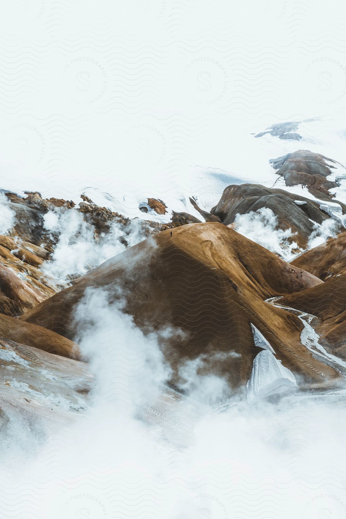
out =
[[(288, 153), (284, 157), (271, 160), (277, 174), (285, 179), (286, 186), (297, 186), (299, 184), (307, 186), (309, 192), (321, 200), (330, 200), (333, 195), (328, 189), (338, 187), (336, 182), (327, 180), (334, 168), (328, 162), (336, 163), (319, 153), (310, 152), (307, 149), (299, 149), (296, 152)], [(345, 209), (343, 207), (343, 209)]]

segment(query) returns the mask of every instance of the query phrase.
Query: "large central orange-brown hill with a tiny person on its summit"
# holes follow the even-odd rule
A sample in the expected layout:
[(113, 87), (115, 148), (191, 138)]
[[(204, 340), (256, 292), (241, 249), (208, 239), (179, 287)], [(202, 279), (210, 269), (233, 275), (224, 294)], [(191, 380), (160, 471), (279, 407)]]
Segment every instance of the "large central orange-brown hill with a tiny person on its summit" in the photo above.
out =
[(74, 308), (87, 288), (103, 288), (111, 299), (126, 299), (143, 330), (169, 326), (184, 332), (162, 339), (173, 367), (202, 353), (233, 352), (211, 361), (209, 371), (230, 376), (233, 386), (244, 384), (259, 352), (252, 322), (287, 367), (320, 382), (338, 374), (301, 345), (295, 316), (264, 302), (320, 283), (222, 224), (193, 224), (135, 245), (20, 319), (73, 338)]

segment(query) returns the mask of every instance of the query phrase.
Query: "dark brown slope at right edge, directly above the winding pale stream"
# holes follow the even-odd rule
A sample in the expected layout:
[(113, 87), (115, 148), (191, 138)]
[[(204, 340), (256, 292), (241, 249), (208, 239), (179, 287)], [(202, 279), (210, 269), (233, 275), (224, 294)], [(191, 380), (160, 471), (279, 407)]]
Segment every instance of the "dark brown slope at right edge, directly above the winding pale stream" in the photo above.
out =
[(346, 358), (346, 273), (321, 285), (290, 294), (282, 304), (311, 313), (319, 318), (315, 326), (320, 343)]

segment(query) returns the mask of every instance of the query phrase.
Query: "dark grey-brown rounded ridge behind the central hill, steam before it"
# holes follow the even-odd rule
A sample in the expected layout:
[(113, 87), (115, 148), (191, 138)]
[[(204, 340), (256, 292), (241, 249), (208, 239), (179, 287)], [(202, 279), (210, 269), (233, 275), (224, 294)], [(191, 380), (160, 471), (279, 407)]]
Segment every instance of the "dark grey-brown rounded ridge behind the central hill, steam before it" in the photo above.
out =
[(271, 209), (278, 217), (279, 228), (291, 229), (294, 236), (289, 239), (303, 249), (306, 249), (309, 237), (315, 229), (313, 222), (322, 224), (329, 218), (313, 200), (259, 184), (226, 187), (220, 201), (211, 212), (218, 216), (223, 224), (229, 225), (234, 222), (237, 214), (256, 212), (261, 208)]

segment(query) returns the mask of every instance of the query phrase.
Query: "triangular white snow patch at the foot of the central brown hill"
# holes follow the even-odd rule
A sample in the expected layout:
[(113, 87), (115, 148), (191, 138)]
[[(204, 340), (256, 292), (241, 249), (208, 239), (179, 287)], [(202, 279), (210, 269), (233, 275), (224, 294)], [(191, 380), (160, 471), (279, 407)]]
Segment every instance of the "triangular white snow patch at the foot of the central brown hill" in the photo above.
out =
[(281, 364), (281, 360), (274, 357), (275, 351), (267, 339), (253, 324), (251, 329), (255, 345), (264, 350), (254, 359), (251, 377), (246, 384), (248, 400), (259, 400), (297, 387), (293, 373)]

